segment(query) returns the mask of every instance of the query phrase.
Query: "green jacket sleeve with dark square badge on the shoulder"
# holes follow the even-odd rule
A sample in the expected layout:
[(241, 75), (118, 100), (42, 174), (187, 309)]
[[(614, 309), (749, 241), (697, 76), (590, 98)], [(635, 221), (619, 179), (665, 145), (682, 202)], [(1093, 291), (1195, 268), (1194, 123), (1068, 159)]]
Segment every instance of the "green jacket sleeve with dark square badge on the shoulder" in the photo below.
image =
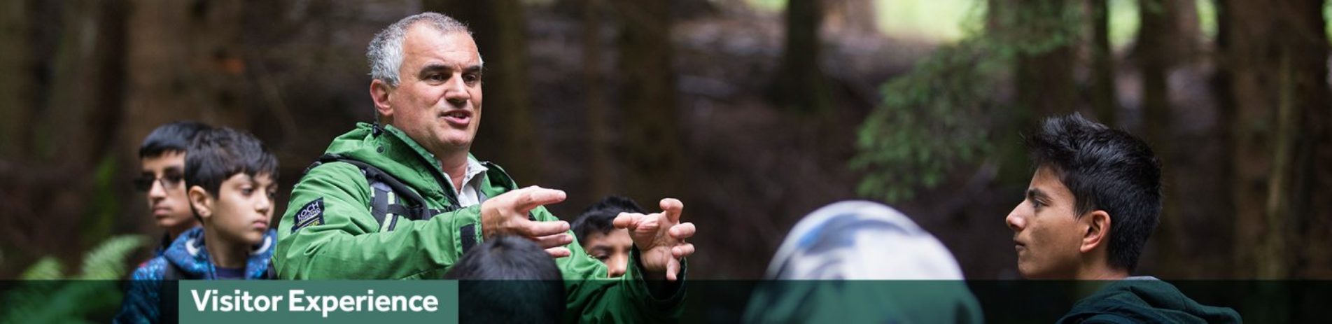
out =
[(438, 279), (462, 255), (460, 229), (480, 223), (480, 207), (470, 207), (380, 232), (369, 191), (354, 165), (310, 169), (277, 229), (278, 279)]

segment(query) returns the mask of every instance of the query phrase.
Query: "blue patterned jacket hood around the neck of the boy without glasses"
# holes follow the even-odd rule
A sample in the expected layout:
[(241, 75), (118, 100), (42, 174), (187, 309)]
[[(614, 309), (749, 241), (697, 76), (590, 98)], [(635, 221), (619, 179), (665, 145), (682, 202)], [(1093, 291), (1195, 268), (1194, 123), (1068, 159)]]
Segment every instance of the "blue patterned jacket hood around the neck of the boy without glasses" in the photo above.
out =
[[(264, 240), (250, 251), (250, 256), (245, 261), (245, 279), (264, 279), (270, 264), (269, 257), (273, 256), (273, 247), (277, 244), (276, 235), (277, 231), (269, 229), (264, 233)], [(176, 237), (170, 247), (163, 252), (163, 259), (180, 269), (181, 279), (217, 279), (217, 271), (209, 261), (208, 249), (204, 247), (204, 228), (196, 227)]]

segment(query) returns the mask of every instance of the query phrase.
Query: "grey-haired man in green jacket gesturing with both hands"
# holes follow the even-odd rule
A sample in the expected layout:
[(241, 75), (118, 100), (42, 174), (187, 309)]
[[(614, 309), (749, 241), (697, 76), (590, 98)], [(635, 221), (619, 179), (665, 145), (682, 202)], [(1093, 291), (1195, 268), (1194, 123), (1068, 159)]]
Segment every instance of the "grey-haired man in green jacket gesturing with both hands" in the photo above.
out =
[(329, 144), (292, 189), (273, 255), (280, 279), (440, 279), (464, 252), (497, 235), (527, 237), (563, 275), (566, 321), (657, 321), (679, 316), (685, 287), (683, 204), (622, 213), (634, 240), (629, 271), (606, 267), (545, 209), (565, 192), (518, 188), (469, 151), (481, 123), (481, 55), (472, 32), (433, 12), (374, 36), (370, 96), (378, 120)]

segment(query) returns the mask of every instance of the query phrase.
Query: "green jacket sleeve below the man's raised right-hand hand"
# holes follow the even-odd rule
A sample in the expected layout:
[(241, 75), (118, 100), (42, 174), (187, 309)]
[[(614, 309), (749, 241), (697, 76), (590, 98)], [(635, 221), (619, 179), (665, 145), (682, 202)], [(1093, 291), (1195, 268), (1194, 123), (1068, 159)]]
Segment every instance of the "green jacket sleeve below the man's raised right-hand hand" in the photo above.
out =
[[(557, 220), (543, 207), (534, 209), (538, 220)], [(573, 231), (569, 232), (573, 236)], [(681, 261), (678, 281), (643, 280), (638, 248), (629, 255), (625, 276), (607, 277), (606, 265), (587, 255), (574, 239), (569, 257), (555, 259), (565, 277), (567, 300), (565, 323), (678, 323), (685, 301), (685, 273)], [(655, 287), (654, 284), (653, 287)]]

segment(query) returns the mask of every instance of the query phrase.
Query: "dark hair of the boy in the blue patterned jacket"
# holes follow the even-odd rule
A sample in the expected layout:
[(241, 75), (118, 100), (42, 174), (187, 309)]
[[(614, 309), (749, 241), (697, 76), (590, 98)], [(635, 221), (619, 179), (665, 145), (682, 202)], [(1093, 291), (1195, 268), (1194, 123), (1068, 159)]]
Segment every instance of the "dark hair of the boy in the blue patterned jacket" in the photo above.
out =
[(200, 132), (185, 155), (185, 188), (202, 187), (217, 195), (228, 177), (268, 175), (277, 181), (277, 157), (253, 135), (232, 128)]

